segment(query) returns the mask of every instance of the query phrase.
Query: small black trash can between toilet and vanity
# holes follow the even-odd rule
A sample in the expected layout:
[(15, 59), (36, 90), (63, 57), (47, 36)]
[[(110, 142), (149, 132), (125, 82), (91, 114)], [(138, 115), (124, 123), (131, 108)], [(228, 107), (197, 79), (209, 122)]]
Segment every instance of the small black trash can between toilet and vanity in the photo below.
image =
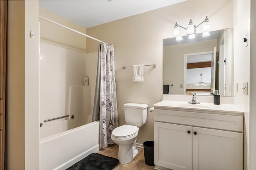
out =
[(154, 141), (146, 141), (143, 143), (145, 163), (154, 166)]

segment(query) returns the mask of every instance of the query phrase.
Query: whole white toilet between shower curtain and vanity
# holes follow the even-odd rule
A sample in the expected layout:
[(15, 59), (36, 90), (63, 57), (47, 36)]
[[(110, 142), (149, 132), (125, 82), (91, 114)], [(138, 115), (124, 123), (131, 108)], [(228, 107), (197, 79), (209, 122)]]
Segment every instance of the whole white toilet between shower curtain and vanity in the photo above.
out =
[(147, 121), (147, 108), (147, 104), (124, 104), (124, 119), (126, 124), (115, 128), (111, 135), (112, 141), (119, 145), (118, 160), (120, 164), (132, 162), (138, 154), (136, 140), (140, 127)]

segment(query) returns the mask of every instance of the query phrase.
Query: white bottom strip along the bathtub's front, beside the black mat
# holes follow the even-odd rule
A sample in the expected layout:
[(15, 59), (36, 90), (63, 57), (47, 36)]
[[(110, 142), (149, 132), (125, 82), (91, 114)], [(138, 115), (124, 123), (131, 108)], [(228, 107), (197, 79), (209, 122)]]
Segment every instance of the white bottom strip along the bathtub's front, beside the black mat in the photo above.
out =
[(54, 170), (64, 170), (64, 169), (67, 169), (68, 167), (70, 167), (73, 164), (75, 164), (76, 162), (82, 160), (83, 158), (85, 158), (89, 154), (94, 153), (94, 152), (98, 152), (99, 149), (100, 149), (100, 145), (96, 145), (96, 146), (92, 147), (91, 149), (86, 150), (85, 152), (79, 154), (78, 156), (68, 160), (67, 162), (65, 162), (64, 164), (58, 166), (57, 168), (54, 168)]

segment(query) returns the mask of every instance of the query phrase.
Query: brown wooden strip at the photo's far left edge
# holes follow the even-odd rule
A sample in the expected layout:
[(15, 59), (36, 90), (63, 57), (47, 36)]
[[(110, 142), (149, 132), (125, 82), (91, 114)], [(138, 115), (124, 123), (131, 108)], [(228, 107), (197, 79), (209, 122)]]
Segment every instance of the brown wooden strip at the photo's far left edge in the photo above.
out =
[(4, 170), (7, 1), (0, 1), (0, 168)]

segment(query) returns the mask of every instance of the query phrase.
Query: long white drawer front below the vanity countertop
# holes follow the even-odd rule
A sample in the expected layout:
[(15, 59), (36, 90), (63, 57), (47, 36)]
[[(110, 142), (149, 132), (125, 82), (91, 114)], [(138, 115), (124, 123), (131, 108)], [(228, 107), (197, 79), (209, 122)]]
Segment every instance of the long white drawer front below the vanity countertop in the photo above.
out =
[(154, 121), (243, 131), (243, 117), (234, 115), (154, 109)]

